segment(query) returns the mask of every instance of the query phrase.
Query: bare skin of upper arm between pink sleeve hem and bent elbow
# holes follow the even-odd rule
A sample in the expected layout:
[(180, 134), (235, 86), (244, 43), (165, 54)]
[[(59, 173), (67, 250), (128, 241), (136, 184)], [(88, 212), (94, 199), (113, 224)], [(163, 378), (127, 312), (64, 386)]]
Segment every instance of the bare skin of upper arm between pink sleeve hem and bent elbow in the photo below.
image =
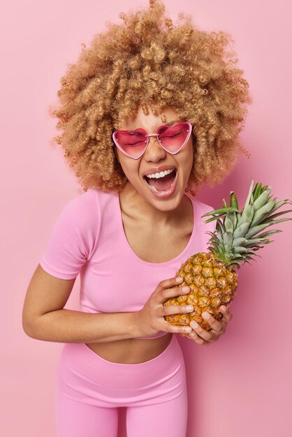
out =
[(31, 277), (22, 310), (24, 332), (45, 313), (63, 309), (73, 289), (75, 279), (59, 279), (45, 272), (41, 265)]

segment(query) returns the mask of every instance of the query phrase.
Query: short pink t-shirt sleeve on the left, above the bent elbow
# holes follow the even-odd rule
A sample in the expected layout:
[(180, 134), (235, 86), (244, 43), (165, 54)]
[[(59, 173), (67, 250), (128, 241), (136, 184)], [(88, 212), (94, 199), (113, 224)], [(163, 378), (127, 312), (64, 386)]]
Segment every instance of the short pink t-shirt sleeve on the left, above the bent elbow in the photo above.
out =
[(54, 223), (41, 256), (40, 265), (45, 272), (60, 279), (76, 278), (94, 251), (98, 222), (94, 192), (87, 191), (68, 202)]

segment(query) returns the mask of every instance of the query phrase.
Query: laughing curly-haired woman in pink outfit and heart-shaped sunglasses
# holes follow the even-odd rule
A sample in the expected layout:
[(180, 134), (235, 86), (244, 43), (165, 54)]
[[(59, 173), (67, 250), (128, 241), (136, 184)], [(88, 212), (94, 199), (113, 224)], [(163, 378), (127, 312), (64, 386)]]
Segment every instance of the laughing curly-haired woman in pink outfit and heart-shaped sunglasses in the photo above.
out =
[[(227, 34), (200, 31), (189, 17), (175, 27), (154, 0), (120, 17), (61, 80), (54, 140), (84, 192), (54, 225), (23, 327), (65, 343), (59, 437), (116, 436), (120, 406), (128, 437), (182, 437), (187, 385), (175, 334), (207, 346), (232, 316), (222, 306), (220, 322), (207, 319), (211, 332), (177, 327), (164, 316), (194, 309), (163, 302), (189, 291), (175, 272), (214, 230), (196, 191), (233, 167), (251, 98)], [(64, 309), (78, 274), (80, 311)]]

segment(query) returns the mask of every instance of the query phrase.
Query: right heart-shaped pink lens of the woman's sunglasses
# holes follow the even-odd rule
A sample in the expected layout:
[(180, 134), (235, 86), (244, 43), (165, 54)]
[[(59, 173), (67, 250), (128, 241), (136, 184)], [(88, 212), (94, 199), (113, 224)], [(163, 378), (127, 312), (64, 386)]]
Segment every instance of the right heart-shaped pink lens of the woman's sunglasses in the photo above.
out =
[(161, 126), (158, 131), (158, 138), (161, 145), (167, 151), (175, 154), (189, 139), (190, 128), (187, 123), (175, 124), (175, 126)]

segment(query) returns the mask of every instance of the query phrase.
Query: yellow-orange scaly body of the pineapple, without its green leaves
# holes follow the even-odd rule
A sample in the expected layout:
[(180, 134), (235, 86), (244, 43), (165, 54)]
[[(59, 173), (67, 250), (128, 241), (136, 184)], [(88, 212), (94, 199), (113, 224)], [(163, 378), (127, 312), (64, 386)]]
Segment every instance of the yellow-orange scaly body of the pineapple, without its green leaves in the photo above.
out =
[[(216, 320), (221, 320), (223, 315), (219, 307), (228, 307), (236, 295), (238, 274), (235, 269), (226, 268), (212, 253), (199, 252), (188, 258), (175, 276), (184, 279), (179, 287), (189, 286), (191, 291), (187, 295), (170, 298), (163, 305), (193, 305), (194, 311), (165, 316), (165, 320), (179, 326), (188, 326), (191, 320), (196, 320), (200, 327), (209, 332), (212, 328), (201, 315), (208, 311)], [(182, 335), (189, 337), (189, 334)]]

